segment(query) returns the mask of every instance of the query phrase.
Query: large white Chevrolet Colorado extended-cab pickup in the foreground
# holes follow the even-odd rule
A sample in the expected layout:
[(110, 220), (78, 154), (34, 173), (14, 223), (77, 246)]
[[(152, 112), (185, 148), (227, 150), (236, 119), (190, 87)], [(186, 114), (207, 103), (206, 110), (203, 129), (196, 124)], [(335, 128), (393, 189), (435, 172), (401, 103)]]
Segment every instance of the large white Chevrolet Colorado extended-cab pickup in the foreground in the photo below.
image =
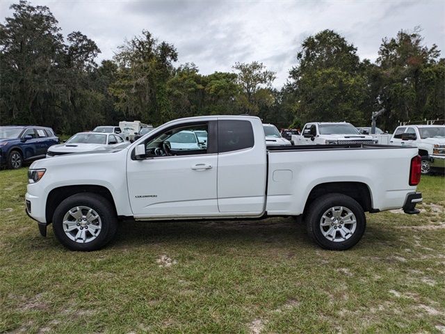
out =
[[(207, 145), (175, 150), (169, 138), (206, 131)], [(165, 123), (127, 148), (65, 154), (29, 168), (26, 212), (72, 250), (95, 250), (121, 220), (302, 216), (323, 248), (354, 246), (364, 212), (417, 214), (416, 148), (305, 145), (266, 148), (261, 120), (205, 116)]]

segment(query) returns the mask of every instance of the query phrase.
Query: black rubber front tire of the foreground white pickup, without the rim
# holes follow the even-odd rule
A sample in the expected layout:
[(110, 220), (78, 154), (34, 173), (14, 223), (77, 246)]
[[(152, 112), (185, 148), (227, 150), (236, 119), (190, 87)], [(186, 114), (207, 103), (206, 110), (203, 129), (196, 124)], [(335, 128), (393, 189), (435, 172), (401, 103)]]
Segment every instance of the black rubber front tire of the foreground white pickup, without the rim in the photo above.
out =
[[(97, 234), (97, 237), (84, 244), (70, 239), (63, 230), (63, 218), (65, 214), (74, 207), (89, 207), (95, 210), (102, 223), (102, 228)], [(74, 219), (74, 221), (76, 221), (76, 219)], [(115, 214), (113, 205), (111, 205), (106, 198), (94, 193), (77, 193), (60, 202), (54, 211), (52, 223), (54, 234), (56, 234), (58, 241), (70, 250), (98, 250), (113, 239), (116, 230), (118, 229), (118, 217)], [(77, 232), (78, 231), (79, 230), (77, 230)], [(75, 232), (76, 230), (74, 233)], [(92, 237), (92, 234), (88, 235)]]

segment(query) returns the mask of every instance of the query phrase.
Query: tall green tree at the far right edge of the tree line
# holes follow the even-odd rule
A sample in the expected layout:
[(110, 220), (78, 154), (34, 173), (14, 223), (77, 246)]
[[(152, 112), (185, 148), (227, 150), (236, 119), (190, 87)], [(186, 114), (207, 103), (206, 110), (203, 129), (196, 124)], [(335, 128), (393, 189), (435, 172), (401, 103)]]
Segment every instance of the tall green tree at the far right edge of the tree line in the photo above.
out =
[(396, 38), (384, 38), (377, 59), (378, 104), (385, 107), (385, 125), (399, 120), (444, 117), (444, 60), (437, 45), (423, 45), (421, 30), (399, 31)]

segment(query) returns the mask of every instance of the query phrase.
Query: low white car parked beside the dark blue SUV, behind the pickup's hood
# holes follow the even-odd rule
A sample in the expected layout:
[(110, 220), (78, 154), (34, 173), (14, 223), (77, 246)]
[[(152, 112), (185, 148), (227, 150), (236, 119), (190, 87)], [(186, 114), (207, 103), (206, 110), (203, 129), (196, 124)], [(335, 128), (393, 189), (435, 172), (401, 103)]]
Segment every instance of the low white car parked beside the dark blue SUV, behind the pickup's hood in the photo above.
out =
[(129, 145), (129, 141), (124, 141), (118, 134), (79, 132), (78, 134), (74, 134), (74, 136), (65, 143), (49, 148), (47, 158), (70, 153), (113, 149), (126, 144)]

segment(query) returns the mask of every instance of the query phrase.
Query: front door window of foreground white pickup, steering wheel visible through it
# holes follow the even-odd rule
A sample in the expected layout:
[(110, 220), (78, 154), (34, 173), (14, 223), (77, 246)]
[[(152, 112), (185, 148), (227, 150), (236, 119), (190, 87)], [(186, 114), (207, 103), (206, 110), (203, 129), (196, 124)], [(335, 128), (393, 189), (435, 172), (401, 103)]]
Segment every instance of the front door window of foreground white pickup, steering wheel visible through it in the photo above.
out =
[(169, 129), (145, 143), (147, 157), (206, 154), (207, 141), (200, 141), (197, 133), (207, 134), (208, 124), (181, 125)]

